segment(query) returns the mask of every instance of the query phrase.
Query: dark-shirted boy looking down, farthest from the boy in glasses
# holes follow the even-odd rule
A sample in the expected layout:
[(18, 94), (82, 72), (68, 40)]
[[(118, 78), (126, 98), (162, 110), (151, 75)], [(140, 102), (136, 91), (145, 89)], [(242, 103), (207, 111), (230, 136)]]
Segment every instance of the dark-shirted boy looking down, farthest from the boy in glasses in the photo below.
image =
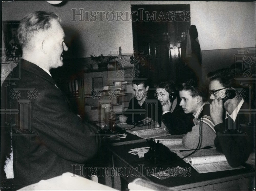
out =
[(123, 115), (119, 116), (120, 122), (136, 126), (145, 124), (161, 124), (162, 109), (160, 102), (149, 91), (148, 80), (132, 81), (134, 97)]

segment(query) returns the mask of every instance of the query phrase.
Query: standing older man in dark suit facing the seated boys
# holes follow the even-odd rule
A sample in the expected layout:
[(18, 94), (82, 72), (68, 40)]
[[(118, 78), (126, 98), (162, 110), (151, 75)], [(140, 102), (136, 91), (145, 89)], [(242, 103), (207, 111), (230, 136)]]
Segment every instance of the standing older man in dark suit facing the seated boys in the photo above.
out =
[(2, 85), (1, 179), (13, 178), (15, 189), (75, 172), (99, 148), (97, 128), (71, 111), (49, 72), (68, 50), (59, 22), (44, 11), (21, 20), (22, 60)]

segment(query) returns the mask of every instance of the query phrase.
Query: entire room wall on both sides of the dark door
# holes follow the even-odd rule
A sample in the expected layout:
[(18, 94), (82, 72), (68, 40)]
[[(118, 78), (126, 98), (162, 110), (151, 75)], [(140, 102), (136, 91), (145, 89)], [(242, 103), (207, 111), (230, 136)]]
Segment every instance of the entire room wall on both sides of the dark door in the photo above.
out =
[[(2, 2), (2, 20), (20, 20), (27, 13), (36, 10), (53, 11), (62, 20), (70, 57), (89, 57), (89, 54), (108, 55), (111, 51), (133, 49), (132, 21), (79, 21), (73, 18), (73, 10), (120, 11), (131, 13), (131, 5), (139, 4), (190, 4), (191, 24), (196, 25), (202, 50), (202, 65), (208, 70), (225, 67), (226, 58), (232, 58), (239, 48), (255, 48), (255, 2), (194, 2), (194, 1), (68, 1), (61, 7), (46, 1)], [(78, 12), (77, 12), (78, 11)], [(83, 17), (86, 17), (83, 14)], [(111, 20), (109, 14), (109, 20)], [(84, 18), (85, 20), (86, 18)], [(77, 21), (72, 21), (77, 20)], [(2, 38), (3, 39), (3, 38)], [(3, 42), (2, 42), (3, 47)], [(223, 50), (226, 49), (226, 50)], [(219, 51), (218, 51), (219, 50)], [(220, 53), (220, 54), (219, 54)], [(213, 56), (214, 55), (214, 56)], [(216, 59), (218, 63), (216, 63)], [(226, 65), (233, 63), (230, 60)], [(203, 75), (204, 75), (203, 71)], [(206, 73), (205, 72), (205, 73)]]

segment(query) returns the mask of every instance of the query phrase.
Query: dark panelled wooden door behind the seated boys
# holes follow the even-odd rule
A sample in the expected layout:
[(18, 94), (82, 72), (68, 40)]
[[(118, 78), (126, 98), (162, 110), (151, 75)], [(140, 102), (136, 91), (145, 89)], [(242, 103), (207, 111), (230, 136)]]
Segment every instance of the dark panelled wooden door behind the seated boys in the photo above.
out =
[[(143, 51), (148, 55), (147, 75), (153, 83), (161, 79), (180, 81), (183, 67), (180, 63), (180, 43), (185, 40), (190, 26), (189, 10), (189, 5), (132, 6), (132, 11), (140, 12), (133, 16), (134, 49), (137, 53)], [(170, 13), (173, 20), (162, 17)]]

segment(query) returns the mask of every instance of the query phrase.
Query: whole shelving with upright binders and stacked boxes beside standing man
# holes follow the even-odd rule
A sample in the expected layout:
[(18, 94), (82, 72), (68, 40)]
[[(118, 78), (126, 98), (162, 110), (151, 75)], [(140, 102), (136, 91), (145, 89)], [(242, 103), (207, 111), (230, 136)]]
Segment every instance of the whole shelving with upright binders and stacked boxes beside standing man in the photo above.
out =
[(58, 87), (82, 119), (101, 120), (102, 103), (110, 104), (111, 110), (116, 112), (128, 107), (133, 96), (131, 82), (135, 66), (130, 63), (130, 55), (114, 58), (106, 68), (99, 68), (91, 58), (65, 58), (62, 67), (51, 70)]

